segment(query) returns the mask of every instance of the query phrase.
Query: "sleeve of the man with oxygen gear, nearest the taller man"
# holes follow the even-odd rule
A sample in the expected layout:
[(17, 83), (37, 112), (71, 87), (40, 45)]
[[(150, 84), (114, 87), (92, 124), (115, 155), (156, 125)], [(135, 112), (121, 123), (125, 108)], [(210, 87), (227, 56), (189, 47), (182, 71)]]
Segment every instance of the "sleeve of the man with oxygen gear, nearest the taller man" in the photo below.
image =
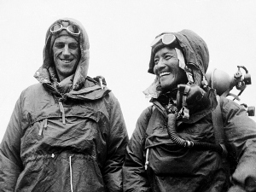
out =
[(151, 191), (145, 171), (143, 148), (151, 108), (147, 108), (137, 119), (136, 129), (126, 148), (125, 164), (123, 166), (124, 191)]

